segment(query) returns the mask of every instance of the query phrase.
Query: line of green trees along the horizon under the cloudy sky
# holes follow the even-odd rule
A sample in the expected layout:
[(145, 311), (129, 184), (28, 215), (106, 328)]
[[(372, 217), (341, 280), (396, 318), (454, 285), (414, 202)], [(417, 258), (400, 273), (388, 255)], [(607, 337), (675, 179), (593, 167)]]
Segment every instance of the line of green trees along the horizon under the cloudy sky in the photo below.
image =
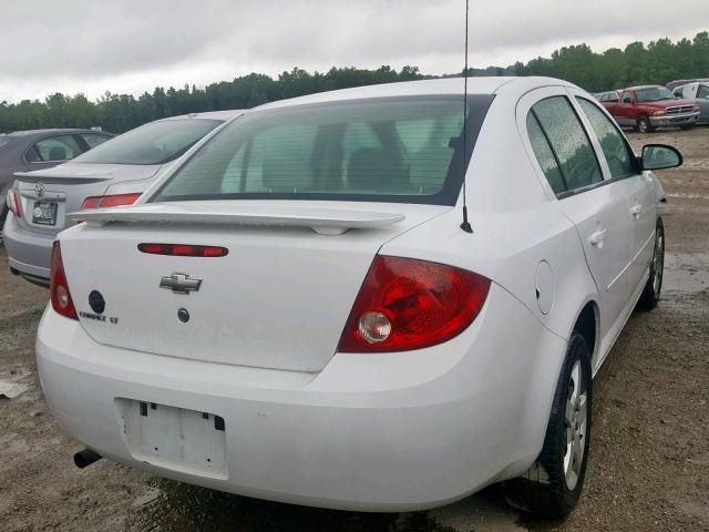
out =
[[(659, 39), (645, 45), (633, 42), (620, 50), (602, 53), (587, 44), (564, 47), (551, 58), (537, 58), (525, 63), (487, 69), (469, 69), (469, 75), (548, 75), (559, 78), (592, 91), (659, 83), (676, 79), (709, 78), (709, 32), (693, 39)], [(461, 73), (449, 74), (461, 75)], [(204, 89), (185, 85), (182, 89), (155, 88), (135, 98), (106, 92), (92, 102), (83, 94), (55, 93), (44, 101), (23, 100), (0, 103), (0, 132), (39, 127), (90, 127), (122, 133), (137, 125), (165, 116), (249, 109), (263, 103), (315, 92), (351, 86), (392, 83), (435, 78), (422, 74), (417, 66), (400, 71), (391, 66), (377, 70), (332, 68), (328, 72), (307, 72), (295, 68), (276, 79), (251, 73), (232, 81), (210, 83)]]

